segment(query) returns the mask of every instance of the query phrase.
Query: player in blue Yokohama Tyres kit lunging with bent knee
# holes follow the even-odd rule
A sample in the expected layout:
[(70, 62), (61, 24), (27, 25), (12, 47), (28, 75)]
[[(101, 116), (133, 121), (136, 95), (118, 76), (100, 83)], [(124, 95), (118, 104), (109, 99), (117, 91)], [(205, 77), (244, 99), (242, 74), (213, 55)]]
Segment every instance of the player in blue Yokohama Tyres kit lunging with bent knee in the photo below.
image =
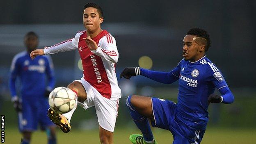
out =
[[(153, 127), (170, 130), (173, 144), (199, 144), (208, 122), (210, 103), (233, 103), (222, 73), (205, 55), (210, 47), (209, 34), (199, 28), (187, 32), (183, 39), (183, 57), (170, 72), (126, 68), (120, 78), (143, 75), (157, 82), (171, 84), (179, 80), (178, 103), (146, 96), (128, 96), (126, 105), (142, 135), (130, 135), (133, 144), (157, 144), (148, 122)], [(221, 96), (213, 94), (215, 88)]]

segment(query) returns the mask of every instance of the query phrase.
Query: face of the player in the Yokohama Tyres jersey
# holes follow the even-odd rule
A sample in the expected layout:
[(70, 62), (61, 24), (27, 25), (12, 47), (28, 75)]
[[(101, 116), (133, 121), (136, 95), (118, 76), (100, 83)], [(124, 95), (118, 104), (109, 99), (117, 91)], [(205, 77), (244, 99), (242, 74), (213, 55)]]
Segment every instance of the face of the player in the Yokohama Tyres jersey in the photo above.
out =
[(196, 43), (193, 38), (193, 35), (185, 35), (183, 39), (183, 57), (185, 60), (189, 60), (191, 62), (197, 61), (199, 57), (199, 44)]

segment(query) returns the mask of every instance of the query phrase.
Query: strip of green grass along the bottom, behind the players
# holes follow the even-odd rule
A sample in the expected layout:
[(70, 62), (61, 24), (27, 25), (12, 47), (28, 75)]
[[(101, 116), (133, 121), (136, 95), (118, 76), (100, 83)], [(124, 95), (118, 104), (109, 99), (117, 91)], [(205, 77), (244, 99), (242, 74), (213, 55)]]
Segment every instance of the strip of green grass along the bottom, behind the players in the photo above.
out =
[[(129, 135), (139, 133), (136, 129), (117, 129), (114, 132), (115, 144), (130, 144)], [(171, 144), (172, 135), (167, 130), (159, 128), (153, 129), (155, 139), (158, 144)], [(17, 128), (5, 127), (5, 143), (18, 144), (21, 140), (21, 134)], [(77, 130), (71, 129), (69, 133), (62, 133), (57, 130), (58, 144), (99, 144), (98, 130)], [(201, 144), (255, 144), (255, 129), (225, 129), (225, 128), (208, 128), (203, 137)], [(46, 134), (37, 131), (32, 136), (31, 144), (46, 144)]]

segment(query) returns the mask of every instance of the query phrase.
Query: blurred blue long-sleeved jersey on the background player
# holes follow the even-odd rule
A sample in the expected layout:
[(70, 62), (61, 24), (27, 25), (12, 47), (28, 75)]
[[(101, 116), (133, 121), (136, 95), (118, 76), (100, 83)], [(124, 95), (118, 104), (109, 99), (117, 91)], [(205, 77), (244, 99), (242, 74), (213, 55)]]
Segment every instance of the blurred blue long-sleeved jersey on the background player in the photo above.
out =
[(9, 85), (12, 97), (17, 96), (17, 77), (21, 83), (22, 98), (43, 97), (45, 90), (53, 89), (55, 85), (53, 63), (49, 56), (37, 56), (32, 60), (28, 52), (18, 53), (12, 60), (10, 72)]

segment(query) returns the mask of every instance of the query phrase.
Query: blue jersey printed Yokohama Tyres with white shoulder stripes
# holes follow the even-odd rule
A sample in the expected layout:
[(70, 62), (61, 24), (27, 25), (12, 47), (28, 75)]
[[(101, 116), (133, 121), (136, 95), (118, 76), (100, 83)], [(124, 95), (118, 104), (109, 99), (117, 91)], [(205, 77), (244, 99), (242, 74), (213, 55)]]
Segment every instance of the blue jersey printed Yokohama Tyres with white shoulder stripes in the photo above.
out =
[(171, 71), (179, 78), (177, 117), (193, 128), (205, 129), (208, 96), (215, 88), (227, 87), (222, 73), (206, 56), (196, 62), (184, 59)]

